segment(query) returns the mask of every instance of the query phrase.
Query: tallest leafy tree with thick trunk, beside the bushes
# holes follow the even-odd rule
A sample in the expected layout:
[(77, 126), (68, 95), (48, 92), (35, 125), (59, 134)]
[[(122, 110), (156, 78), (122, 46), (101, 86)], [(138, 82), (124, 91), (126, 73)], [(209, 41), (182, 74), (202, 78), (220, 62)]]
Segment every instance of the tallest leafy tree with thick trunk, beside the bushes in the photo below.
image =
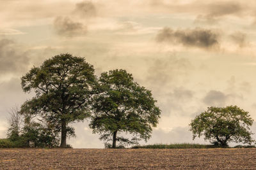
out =
[(24, 92), (36, 96), (22, 105), (21, 113), (38, 115), (55, 124), (61, 132), (61, 147), (66, 147), (67, 134), (74, 135), (68, 124), (89, 116), (88, 106), (96, 79), (91, 64), (69, 53), (56, 55), (33, 67), (21, 78)]

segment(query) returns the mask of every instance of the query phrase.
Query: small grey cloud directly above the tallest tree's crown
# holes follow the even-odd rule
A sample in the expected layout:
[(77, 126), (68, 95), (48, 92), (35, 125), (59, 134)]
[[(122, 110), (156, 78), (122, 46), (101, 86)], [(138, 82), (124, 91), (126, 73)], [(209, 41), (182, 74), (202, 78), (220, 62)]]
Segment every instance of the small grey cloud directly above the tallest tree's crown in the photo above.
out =
[(54, 28), (56, 32), (61, 36), (81, 36), (86, 34), (87, 27), (81, 22), (75, 22), (69, 17), (57, 17), (54, 20)]

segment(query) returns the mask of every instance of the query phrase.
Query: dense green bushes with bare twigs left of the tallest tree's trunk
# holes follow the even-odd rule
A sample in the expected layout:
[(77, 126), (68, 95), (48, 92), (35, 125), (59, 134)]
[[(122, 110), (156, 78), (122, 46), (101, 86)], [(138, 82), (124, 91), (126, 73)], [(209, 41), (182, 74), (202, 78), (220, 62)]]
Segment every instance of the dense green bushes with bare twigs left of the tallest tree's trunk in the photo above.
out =
[[(56, 147), (60, 143), (58, 132), (45, 121), (33, 120), (30, 115), (20, 115), (17, 108), (10, 112), (7, 139), (2, 141), (1, 147)], [(38, 120), (38, 118), (37, 118)]]

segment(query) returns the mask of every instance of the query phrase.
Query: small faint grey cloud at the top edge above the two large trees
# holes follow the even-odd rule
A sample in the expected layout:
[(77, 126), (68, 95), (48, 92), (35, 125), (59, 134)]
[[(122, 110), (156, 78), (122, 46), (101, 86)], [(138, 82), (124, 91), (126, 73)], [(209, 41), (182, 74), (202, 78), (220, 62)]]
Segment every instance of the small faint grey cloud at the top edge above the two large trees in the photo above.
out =
[(79, 14), (81, 17), (95, 17), (97, 15), (97, 10), (92, 2), (84, 1), (76, 4), (74, 13)]

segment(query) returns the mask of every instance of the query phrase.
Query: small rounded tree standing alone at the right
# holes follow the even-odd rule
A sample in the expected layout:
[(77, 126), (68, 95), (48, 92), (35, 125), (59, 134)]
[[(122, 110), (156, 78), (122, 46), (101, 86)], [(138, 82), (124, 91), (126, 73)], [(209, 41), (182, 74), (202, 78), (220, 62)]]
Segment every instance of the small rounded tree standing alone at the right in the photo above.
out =
[(253, 142), (250, 126), (253, 119), (248, 111), (237, 106), (226, 108), (210, 107), (192, 120), (190, 131), (193, 132), (193, 139), (204, 135), (214, 145), (228, 146), (228, 142), (249, 143)]

